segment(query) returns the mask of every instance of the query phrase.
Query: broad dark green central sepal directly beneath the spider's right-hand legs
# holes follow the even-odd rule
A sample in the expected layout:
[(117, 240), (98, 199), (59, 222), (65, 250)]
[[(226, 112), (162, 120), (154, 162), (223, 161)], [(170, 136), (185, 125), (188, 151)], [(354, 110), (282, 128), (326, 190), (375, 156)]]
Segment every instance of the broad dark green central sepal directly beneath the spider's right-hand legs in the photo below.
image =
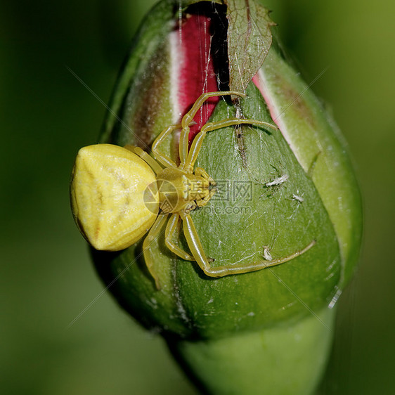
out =
[[(221, 101), (212, 120), (225, 119), (232, 111)], [(245, 117), (271, 122), (252, 84), (242, 111)], [(316, 245), (280, 266), (214, 279), (195, 262), (169, 252), (160, 238), (151, 248), (162, 290), (156, 290), (144, 265), (141, 242), (117, 254), (96, 252), (96, 266), (107, 282), (122, 272), (112, 285), (119, 302), (150, 328), (197, 338), (297, 320), (328, 305), (340, 276), (337, 238), (313, 182), (280, 131), (258, 127), (213, 131), (197, 166), (219, 182), (218, 196), (192, 213), (205, 252), (216, 259), (213, 265), (262, 260), (264, 247), (279, 258), (302, 250), (312, 240)], [(266, 186), (280, 176), (287, 176), (287, 181)], [(222, 180), (231, 188), (247, 186), (249, 194), (222, 199), (227, 193), (221, 190)], [(294, 199), (298, 193), (303, 202)], [(182, 237), (180, 242), (188, 250)], [(104, 256), (110, 259), (102, 264)]]

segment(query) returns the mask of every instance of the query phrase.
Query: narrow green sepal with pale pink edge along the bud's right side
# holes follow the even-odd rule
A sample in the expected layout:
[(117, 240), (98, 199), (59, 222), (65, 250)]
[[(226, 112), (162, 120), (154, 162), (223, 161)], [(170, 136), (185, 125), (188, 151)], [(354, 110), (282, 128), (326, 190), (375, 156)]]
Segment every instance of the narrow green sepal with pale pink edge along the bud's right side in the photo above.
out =
[(362, 201), (347, 143), (332, 115), (272, 46), (259, 70), (292, 152), (314, 185), (337, 233), (342, 253), (339, 290), (355, 271), (362, 239)]

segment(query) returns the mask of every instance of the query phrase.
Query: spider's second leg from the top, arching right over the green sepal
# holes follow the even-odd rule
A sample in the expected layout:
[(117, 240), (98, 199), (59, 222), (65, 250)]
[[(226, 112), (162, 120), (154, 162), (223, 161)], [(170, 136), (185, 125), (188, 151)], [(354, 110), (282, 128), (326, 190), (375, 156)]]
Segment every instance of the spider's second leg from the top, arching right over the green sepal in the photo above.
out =
[(200, 129), (200, 132), (193, 139), (193, 143), (190, 146), (188, 157), (184, 162), (184, 168), (185, 169), (193, 168), (193, 166), (195, 165), (197, 155), (199, 155), (200, 148), (202, 148), (202, 143), (203, 140), (205, 139), (207, 131), (212, 131), (216, 129), (221, 129), (223, 127), (230, 127), (233, 125), (240, 125), (240, 124), (261, 125), (265, 127), (270, 127), (272, 129), (277, 129), (277, 127), (274, 126), (273, 124), (269, 124), (268, 122), (257, 121), (255, 119), (229, 118), (229, 119), (224, 119), (224, 121), (208, 122), (207, 124), (205, 124), (204, 127), (202, 127), (202, 129)]

